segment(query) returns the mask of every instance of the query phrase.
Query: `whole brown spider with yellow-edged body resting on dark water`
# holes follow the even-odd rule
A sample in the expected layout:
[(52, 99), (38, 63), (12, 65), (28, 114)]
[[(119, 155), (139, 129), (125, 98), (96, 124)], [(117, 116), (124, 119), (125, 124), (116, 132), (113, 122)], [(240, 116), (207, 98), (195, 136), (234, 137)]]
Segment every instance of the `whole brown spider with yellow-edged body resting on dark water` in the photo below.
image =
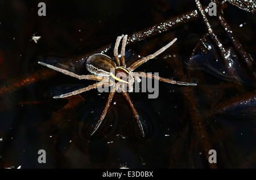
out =
[[(122, 40), (121, 56), (118, 56), (118, 46), (121, 40)], [(139, 115), (137, 113), (137, 110), (134, 108), (133, 102), (131, 102), (125, 87), (129, 87), (129, 88), (132, 87), (132, 85), (134, 84), (134, 80), (139, 81), (140, 77), (156, 79), (156, 80), (160, 80), (162, 82), (171, 83), (171, 84), (197, 85), (196, 83), (178, 82), (171, 79), (161, 78), (159, 76), (144, 73), (144, 72), (133, 72), (137, 67), (141, 66), (143, 63), (146, 63), (149, 59), (155, 58), (159, 54), (163, 53), (164, 50), (170, 48), (170, 46), (174, 44), (176, 40), (177, 38), (174, 38), (174, 40), (169, 42), (167, 45), (163, 46), (163, 48), (159, 49), (154, 54), (147, 55), (147, 57), (144, 57), (134, 62), (130, 67), (126, 67), (125, 46), (127, 42), (127, 35), (118, 36), (114, 46), (114, 61), (112, 58), (110, 58), (108, 55), (105, 55), (105, 54), (93, 54), (87, 59), (86, 68), (91, 73), (91, 75), (77, 75), (71, 71), (64, 70), (62, 68), (55, 67), (52, 65), (48, 65), (47, 63), (44, 63), (44, 62), (39, 61), (38, 63), (40, 65), (47, 66), (48, 68), (52, 68), (55, 71), (62, 72), (65, 75), (73, 76), (78, 79), (89, 79), (89, 80), (98, 81), (98, 83), (89, 85), (88, 87), (81, 88), (73, 92), (65, 93), (63, 95), (54, 96), (53, 98), (64, 98), (68, 96), (73, 96), (85, 91), (89, 91), (90, 89), (96, 89), (98, 87), (111, 87), (105, 109), (101, 114), (100, 120), (97, 122), (97, 125), (94, 127), (94, 130), (90, 135), (94, 134), (94, 132), (101, 125), (101, 122), (104, 120), (115, 92), (121, 92), (122, 95), (127, 100), (127, 102), (129, 103), (129, 106), (133, 111), (134, 117), (137, 120), (139, 129), (141, 130), (142, 136), (144, 137), (144, 131), (143, 131), (142, 123), (139, 119)], [(113, 69), (114, 71), (112, 71)]]

